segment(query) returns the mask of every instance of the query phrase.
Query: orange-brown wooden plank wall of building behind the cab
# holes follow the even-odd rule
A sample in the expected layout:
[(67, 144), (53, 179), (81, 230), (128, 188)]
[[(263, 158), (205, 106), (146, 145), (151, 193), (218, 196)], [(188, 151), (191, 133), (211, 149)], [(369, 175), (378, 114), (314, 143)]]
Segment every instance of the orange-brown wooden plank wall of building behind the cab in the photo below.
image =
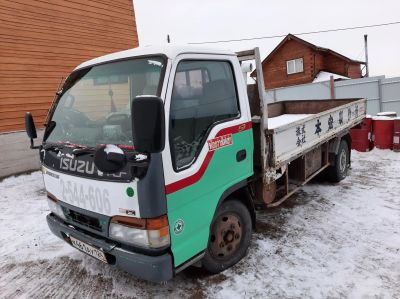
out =
[(62, 77), (81, 62), (138, 46), (132, 0), (2, 0), (0, 133), (43, 126)]

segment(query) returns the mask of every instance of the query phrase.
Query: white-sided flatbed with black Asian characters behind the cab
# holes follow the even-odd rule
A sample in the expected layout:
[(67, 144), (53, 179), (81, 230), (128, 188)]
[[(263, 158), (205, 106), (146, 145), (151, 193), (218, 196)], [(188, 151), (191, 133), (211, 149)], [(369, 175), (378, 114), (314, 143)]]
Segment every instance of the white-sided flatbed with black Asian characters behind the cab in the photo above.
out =
[(257, 83), (248, 85), (247, 92), (254, 128), (253, 189), (259, 206), (281, 204), (322, 172), (332, 178), (342, 140), (347, 143), (345, 163), (350, 165), (349, 130), (365, 118), (365, 99), (268, 103), (258, 49), (237, 55), (241, 62), (256, 63)]

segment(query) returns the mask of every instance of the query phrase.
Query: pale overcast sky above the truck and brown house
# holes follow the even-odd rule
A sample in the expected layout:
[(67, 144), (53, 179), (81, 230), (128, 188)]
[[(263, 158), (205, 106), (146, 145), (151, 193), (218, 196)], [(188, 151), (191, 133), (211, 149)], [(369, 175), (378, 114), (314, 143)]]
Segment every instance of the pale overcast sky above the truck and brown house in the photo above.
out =
[[(133, 0), (139, 45), (230, 40), (400, 21), (399, 0)], [(300, 35), (317, 46), (365, 60), (370, 76), (400, 76), (400, 24)], [(204, 44), (233, 51), (260, 47), (266, 57), (283, 38)]]

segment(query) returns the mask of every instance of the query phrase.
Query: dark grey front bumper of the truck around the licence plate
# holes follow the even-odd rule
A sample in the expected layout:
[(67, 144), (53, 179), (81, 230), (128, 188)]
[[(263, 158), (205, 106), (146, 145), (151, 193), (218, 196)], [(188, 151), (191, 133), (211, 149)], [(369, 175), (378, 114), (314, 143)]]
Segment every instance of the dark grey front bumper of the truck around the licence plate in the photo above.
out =
[[(173, 277), (172, 257), (169, 253), (160, 256), (148, 256), (117, 247), (113, 241), (106, 241), (84, 234), (73, 226), (65, 224), (53, 214), (47, 215), (50, 230), (64, 241), (73, 236), (106, 253), (111, 265), (115, 265), (136, 277), (152, 282), (167, 281)], [(68, 241), (67, 241), (68, 242)]]

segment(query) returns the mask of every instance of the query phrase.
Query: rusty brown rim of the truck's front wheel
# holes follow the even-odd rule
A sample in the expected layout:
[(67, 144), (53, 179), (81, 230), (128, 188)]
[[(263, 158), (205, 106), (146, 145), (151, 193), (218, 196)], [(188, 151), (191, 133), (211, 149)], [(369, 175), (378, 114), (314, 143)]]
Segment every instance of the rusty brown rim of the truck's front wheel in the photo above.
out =
[(216, 259), (228, 259), (239, 248), (241, 240), (242, 225), (239, 216), (225, 213), (214, 222), (210, 236), (210, 252)]

